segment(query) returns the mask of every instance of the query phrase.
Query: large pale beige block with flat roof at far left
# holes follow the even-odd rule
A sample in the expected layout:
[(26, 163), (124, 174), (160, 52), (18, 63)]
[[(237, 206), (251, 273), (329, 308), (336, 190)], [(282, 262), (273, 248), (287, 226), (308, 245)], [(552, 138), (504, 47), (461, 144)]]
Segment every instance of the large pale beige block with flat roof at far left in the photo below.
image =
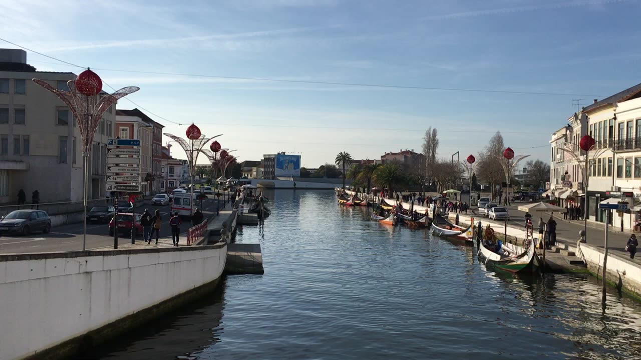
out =
[[(40, 202), (83, 198), (82, 140), (71, 111), (56, 95), (31, 79), (66, 89), (71, 72), (38, 72), (26, 53), (0, 49), (0, 202), (16, 202), (23, 189), (27, 201), (34, 190)], [(106, 140), (115, 127), (115, 104), (103, 115), (91, 156), (91, 199), (104, 197)]]

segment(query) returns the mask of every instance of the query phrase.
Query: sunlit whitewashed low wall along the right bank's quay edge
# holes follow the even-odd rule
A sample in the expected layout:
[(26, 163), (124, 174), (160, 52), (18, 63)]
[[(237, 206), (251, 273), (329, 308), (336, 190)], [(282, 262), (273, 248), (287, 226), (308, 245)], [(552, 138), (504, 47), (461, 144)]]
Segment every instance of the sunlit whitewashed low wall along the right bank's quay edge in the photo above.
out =
[[(583, 254), (583, 261), (588, 266), (588, 270), (600, 277), (603, 274), (603, 249), (587, 243), (579, 243), (579, 250), (579, 254)], [(610, 252), (608, 252), (606, 266), (606, 279), (614, 282), (617, 287), (641, 297), (641, 266), (628, 259), (613, 256)]]

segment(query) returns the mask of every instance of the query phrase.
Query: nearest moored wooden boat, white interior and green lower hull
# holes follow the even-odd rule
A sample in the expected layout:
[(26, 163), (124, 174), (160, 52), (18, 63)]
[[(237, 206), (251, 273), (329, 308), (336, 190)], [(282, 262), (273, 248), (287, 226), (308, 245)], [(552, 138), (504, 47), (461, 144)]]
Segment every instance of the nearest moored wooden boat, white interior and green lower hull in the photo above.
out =
[(529, 240), (529, 244), (526, 244), (526, 249), (520, 253), (518, 252), (519, 248), (510, 245), (501, 245), (501, 249), (505, 253), (498, 254), (494, 249), (489, 249), (486, 245), (481, 244), (479, 255), (485, 259), (485, 264), (496, 266), (507, 272), (525, 273), (538, 270), (540, 263), (531, 240)]

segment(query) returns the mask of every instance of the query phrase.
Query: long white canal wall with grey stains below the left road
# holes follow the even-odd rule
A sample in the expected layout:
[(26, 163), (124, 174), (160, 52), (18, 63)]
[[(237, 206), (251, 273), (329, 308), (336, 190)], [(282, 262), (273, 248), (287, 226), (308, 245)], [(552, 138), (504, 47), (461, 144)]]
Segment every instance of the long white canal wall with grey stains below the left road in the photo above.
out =
[(225, 243), (0, 255), (0, 359), (78, 358), (83, 346), (215, 286), (226, 255)]

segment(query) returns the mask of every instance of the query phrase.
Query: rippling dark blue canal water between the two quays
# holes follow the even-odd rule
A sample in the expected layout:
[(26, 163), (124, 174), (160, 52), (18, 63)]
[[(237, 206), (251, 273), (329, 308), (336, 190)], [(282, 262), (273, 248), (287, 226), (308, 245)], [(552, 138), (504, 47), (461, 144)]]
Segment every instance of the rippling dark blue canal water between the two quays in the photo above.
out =
[(641, 305), (601, 308), (587, 275), (517, 277), (428, 231), (369, 221), (331, 191), (267, 192), (265, 275), (99, 349), (92, 359), (641, 359)]

